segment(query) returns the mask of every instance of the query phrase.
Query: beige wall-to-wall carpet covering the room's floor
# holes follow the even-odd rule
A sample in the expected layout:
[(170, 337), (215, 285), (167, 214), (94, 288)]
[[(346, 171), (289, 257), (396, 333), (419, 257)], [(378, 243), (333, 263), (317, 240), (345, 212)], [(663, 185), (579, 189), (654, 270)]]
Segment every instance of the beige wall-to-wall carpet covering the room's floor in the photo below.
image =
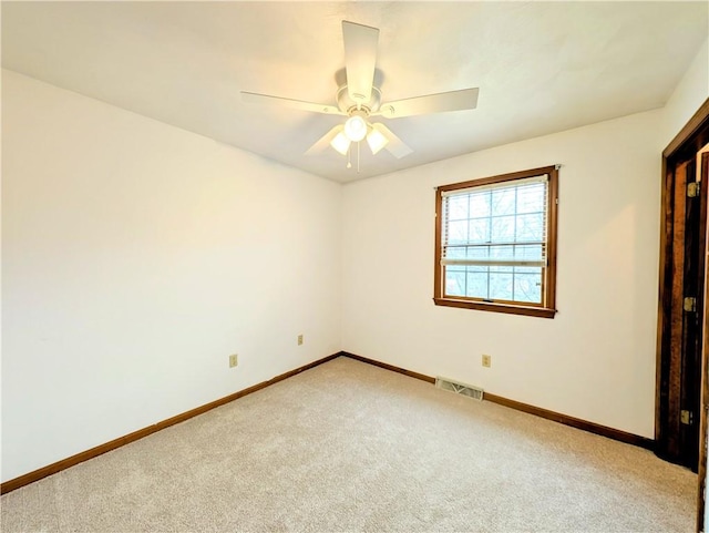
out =
[(338, 358), (6, 494), (3, 532), (691, 532), (653, 453)]

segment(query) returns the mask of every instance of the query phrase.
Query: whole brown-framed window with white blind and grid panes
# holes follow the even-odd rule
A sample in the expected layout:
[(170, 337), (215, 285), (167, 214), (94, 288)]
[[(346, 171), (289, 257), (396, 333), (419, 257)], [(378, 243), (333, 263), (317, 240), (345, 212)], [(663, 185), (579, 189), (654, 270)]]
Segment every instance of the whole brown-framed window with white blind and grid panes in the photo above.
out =
[(554, 318), (555, 166), (438, 187), (439, 306)]

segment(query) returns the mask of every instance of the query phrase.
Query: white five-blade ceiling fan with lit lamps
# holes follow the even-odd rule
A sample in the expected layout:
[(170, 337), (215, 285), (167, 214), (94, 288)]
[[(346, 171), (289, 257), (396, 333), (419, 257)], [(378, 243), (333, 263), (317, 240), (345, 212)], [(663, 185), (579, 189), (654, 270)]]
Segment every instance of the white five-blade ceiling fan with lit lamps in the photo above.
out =
[[(340, 154), (349, 155), (351, 144), (357, 143), (359, 150), (360, 141), (366, 139), (372, 154), (387, 148), (393, 156), (401, 158), (413, 151), (384, 124), (370, 122), (370, 119), (401, 119), (425, 113), (472, 110), (477, 105), (477, 88), (382, 102), (381, 90), (374, 85), (379, 29), (343, 20), (342, 38), (347, 82), (338, 88), (337, 105), (242, 91), (245, 102), (285, 105), (348, 117), (320, 137), (306, 154), (320, 153), (329, 145)], [(350, 166), (348, 161), (348, 167)]]

